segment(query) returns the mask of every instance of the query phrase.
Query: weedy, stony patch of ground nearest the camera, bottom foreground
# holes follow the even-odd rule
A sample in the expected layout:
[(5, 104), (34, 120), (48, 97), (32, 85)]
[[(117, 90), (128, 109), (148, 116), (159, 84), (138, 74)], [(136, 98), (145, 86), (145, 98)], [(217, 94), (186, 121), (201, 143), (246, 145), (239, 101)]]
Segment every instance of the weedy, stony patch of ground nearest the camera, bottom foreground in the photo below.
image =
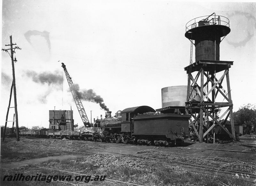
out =
[[(95, 163), (91, 162), (90, 158), (99, 162), (106, 158), (109, 159), (107, 163), (99, 163), (95, 166)], [(139, 161), (140, 166), (130, 166), (132, 161)], [(104, 162), (104, 161), (102, 161)], [(109, 155), (91, 156), (87, 158), (77, 158), (77, 159), (66, 159), (66, 160), (47, 160), (44, 163), (38, 164), (38, 166), (49, 167), (58, 170), (65, 170), (74, 172), (67, 173), (58, 170), (50, 170), (39, 168), (36, 166), (25, 166), (16, 169), (15, 171), (23, 173), (26, 175), (72, 175), (72, 178), (77, 174), (84, 175), (107, 175), (106, 178), (120, 180), (124, 182), (136, 183), (140, 185), (172, 185), (172, 186), (218, 186), (220, 182), (227, 185), (241, 185), (248, 186), (252, 185), (252, 182), (245, 182), (239, 179), (233, 179), (231, 176), (217, 176), (204, 173), (196, 173), (190, 170), (186, 170), (179, 166), (163, 166), (162, 164), (152, 164), (147, 160), (141, 160), (132, 157), (112, 157)], [(1, 172), (1, 175), (14, 175), (14, 172)], [(3, 182), (1, 178), (1, 185), (15, 185), (13, 182)], [(8, 184), (6, 184), (8, 183)], [(23, 184), (24, 183), (24, 184)], [(84, 185), (84, 182), (72, 183), (78, 185)], [(16, 183), (17, 184), (17, 183)], [(45, 185), (45, 182), (22, 182), (22, 185)], [(59, 186), (58, 182), (51, 182), (51, 185)], [(65, 184), (64, 184), (65, 185)], [(123, 185), (116, 182), (89, 182), (86, 185), (111, 185), (119, 186)]]

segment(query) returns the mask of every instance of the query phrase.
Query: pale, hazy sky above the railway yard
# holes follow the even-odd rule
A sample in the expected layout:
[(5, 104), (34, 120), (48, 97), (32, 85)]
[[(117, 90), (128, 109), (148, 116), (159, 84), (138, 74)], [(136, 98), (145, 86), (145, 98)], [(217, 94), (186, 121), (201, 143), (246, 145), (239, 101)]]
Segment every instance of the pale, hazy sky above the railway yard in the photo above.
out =
[[(49, 110), (71, 107), (75, 124), (83, 125), (61, 63), (73, 83), (84, 93), (92, 89), (112, 115), (142, 105), (161, 108), (163, 87), (188, 83), (186, 23), (213, 12), (230, 21), (231, 32), (220, 43), (220, 60), (234, 61), (229, 77), (237, 111), (256, 103), (254, 2), (3, 0), (2, 48), (8, 48), (10, 35), (21, 48), (14, 54), (19, 126), (48, 128)], [(12, 64), (8, 53), (1, 55), (4, 125)], [(105, 115), (99, 103), (88, 100), (82, 103), (89, 121), (91, 113), (92, 121)], [(13, 114), (10, 108), (8, 121)]]

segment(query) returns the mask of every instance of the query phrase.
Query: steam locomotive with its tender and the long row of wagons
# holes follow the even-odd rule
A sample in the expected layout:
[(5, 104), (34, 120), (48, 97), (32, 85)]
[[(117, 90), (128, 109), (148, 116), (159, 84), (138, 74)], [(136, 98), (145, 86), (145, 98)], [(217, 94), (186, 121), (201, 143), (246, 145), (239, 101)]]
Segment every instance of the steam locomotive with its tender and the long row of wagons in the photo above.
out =
[(157, 114), (149, 106), (139, 106), (119, 110), (116, 116), (111, 116), (111, 111), (108, 111), (105, 117), (96, 120), (94, 127), (83, 127), (78, 131), (30, 130), (20, 131), (20, 135), (165, 146), (180, 144), (189, 137), (190, 115)]

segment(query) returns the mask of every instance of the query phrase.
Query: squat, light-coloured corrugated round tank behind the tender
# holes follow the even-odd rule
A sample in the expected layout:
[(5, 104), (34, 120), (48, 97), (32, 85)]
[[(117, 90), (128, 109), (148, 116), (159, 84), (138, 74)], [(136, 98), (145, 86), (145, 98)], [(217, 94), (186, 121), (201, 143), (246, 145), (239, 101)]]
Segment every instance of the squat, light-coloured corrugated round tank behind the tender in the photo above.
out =
[[(190, 88), (192, 90), (192, 87)], [(162, 88), (162, 108), (165, 107), (185, 107), (185, 101), (187, 101), (187, 85), (180, 86), (168, 86)], [(192, 95), (195, 95), (194, 90)], [(196, 101), (200, 101), (199, 96), (196, 96)]]

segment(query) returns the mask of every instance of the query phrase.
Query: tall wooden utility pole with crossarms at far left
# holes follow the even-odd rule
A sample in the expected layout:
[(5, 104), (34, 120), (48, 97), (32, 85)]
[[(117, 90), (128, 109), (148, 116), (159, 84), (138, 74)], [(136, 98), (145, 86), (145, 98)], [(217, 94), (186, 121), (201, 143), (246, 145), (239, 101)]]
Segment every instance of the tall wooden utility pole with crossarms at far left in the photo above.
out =
[[(16, 47), (12, 47), (13, 45), (16, 45), (12, 43), (12, 36), (10, 36), (10, 45), (5, 45), (5, 46), (10, 46), (11, 48), (8, 48), (8, 49), (2, 49), (3, 51), (5, 52), (8, 52), (8, 50), (11, 50), (11, 55), (9, 53), (9, 55), (11, 56), (11, 59), (12, 59), (12, 85), (13, 85), (13, 93), (14, 93), (14, 109), (15, 109), (15, 116), (16, 116), (16, 138), (17, 138), (17, 141), (20, 141), (20, 136), (19, 136), (19, 122), (18, 122), (18, 109), (17, 109), (17, 98), (16, 98), (16, 84), (15, 84), (15, 70), (14, 70), (14, 61), (17, 62), (16, 60), (16, 57), (15, 59), (13, 60), (13, 53), (15, 53), (15, 49), (20, 49), (18, 46)], [(10, 106), (9, 106), (10, 107)], [(7, 119), (6, 119), (7, 121)]]

